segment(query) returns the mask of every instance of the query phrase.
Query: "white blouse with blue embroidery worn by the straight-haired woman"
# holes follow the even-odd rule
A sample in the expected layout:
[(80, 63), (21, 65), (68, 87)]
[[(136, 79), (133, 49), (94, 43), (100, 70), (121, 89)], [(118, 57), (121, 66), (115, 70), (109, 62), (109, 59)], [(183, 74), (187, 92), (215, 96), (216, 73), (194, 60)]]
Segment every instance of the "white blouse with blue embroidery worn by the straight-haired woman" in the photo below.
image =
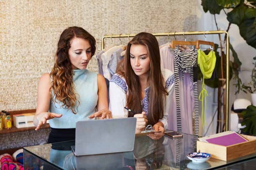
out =
[[(166, 105), (164, 106), (164, 116), (159, 119), (159, 122), (164, 124), (164, 129), (168, 128), (168, 116), (169, 108), (172, 99), (172, 93), (174, 91), (175, 76), (172, 71), (168, 69), (161, 69), (164, 81), (165, 89), (169, 93), (166, 96)], [(141, 101), (143, 111), (148, 111), (148, 92), (149, 88), (145, 89), (145, 96)], [(109, 82), (109, 110), (112, 112), (113, 118), (124, 118), (128, 117), (128, 110), (124, 107), (126, 105), (126, 93), (128, 92), (128, 86), (126, 85), (125, 79), (117, 74), (114, 74)]]

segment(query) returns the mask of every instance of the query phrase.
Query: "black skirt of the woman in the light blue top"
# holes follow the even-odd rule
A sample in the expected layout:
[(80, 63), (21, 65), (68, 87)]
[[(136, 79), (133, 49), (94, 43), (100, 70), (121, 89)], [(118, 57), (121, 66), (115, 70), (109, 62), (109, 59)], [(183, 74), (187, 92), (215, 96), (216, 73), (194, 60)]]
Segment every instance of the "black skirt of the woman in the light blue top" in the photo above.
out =
[(71, 129), (56, 129), (51, 128), (47, 143), (64, 142), (76, 139), (76, 128)]

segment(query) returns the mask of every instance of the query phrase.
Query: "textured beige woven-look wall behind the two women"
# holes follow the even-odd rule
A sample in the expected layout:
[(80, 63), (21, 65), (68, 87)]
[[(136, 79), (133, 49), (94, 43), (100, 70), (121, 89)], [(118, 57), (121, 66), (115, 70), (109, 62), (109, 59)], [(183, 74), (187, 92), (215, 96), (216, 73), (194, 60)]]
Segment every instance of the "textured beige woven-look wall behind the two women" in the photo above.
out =
[[(68, 26), (90, 32), (99, 51), (106, 34), (194, 31), (195, 9), (196, 0), (0, 0), (0, 109), (36, 108), (39, 77), (51, 70), (60, 33)], [(88, 69), (97, 71), (95, 57)]]

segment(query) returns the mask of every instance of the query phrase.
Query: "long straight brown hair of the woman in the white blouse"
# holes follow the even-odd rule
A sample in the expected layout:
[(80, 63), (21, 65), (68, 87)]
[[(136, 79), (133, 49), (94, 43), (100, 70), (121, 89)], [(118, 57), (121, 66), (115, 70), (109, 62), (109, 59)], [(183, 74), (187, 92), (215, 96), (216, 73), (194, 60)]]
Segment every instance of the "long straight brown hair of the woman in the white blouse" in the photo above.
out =
[[(160, 52), (156, 37), (150, 33), (138, 33), (128, 43), (124, 59), (119, 63), (116, 70), (117, 74), (125, 78), (128, 86), (126, 94), (126, 107), (134, 110), (136, 113), (142, 112), (140, 102), (141, 86), (139, 77), (132, 70), (130, 62), (130, 48), (131, 45), (140, 44), (148, 48), (148, 55), (150, 59), (150, 70), (148, 84), (149, 87), (149, 106), (148, 106), (148, 124), (154, 125), (159, 119), (163, 118), (164, 107), (166, 102), (166, 95), (168, 92), (165, 90), (164, 78), (160, 67)], [(129, 112), (129, 117), (133, 114)]]

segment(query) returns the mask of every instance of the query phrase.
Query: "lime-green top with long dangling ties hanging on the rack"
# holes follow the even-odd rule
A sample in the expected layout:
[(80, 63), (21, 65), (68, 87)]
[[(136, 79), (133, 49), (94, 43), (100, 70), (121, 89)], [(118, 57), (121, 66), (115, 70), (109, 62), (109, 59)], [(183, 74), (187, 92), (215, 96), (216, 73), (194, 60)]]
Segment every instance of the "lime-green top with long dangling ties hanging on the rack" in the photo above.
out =
[[(207, 91), (205, 90), (204, 85), (204, 78), (208, 79), (212, 77), (212, 72), (215, 68), (216, 64), (216, 55), (214, 51), (210, 51), (208, 55), (204, 53), (204, 51), (198, 49), (198, 55), (197, 55), (197, 64), (200, 67), (200, 70), (203, 74), (203, 84), (202, 84), (202, 91), (199, 94), (198, 99), (202, 101), (202, 125), (203, 130), (204, 126), (206, 126), (206, 118), (205, 118), (205, 112), (206, 112), (206, 97), (208, 96)], [(204, 119), (203, 119), (203, 111), (204, 111)]]

